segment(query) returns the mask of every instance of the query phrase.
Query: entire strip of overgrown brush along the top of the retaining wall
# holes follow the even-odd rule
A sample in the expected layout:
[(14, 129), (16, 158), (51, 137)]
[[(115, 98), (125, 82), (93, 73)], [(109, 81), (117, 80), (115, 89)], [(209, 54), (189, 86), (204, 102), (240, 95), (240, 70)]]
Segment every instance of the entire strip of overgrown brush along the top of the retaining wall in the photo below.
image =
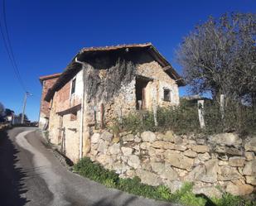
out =
[(224, 117), (221, 117), (220, 103), (205, 100), (205, 129), (201, 130), (198, 119), (197, 103), (181, 99), (180, 106), (157, 109), (155, 126), (153, 113), (143, 111), (130, 113), (123, 122), (114, 123), (115, 131), (165, 132), (172, 130), (177, 134), (238, 132), (241, 136), (256, 133), (256, 110), (250, 106), (229, 101), (225, 105)]

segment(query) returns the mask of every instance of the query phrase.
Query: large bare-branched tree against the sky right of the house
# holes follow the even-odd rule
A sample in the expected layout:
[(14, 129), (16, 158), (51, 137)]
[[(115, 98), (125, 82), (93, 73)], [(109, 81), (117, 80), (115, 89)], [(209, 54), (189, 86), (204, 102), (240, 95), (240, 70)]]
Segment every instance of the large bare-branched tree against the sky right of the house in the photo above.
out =
[[(256, 99), (256, 14), (210, 17), (184, 38), (176, 59), (192, 93)], [(254, 102), (256, 103), (256, 102)]]

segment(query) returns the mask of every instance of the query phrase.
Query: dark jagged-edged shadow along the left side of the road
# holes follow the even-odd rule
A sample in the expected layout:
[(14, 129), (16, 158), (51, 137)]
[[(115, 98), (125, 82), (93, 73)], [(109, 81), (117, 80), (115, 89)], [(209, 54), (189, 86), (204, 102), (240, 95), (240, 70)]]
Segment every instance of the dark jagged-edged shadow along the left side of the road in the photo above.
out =
[(15, 165), (18, 152), (7, 132), (0, 131), (0, 205), (22, 206), (29, 202), (22, 197), (27, 192), (23, 183), (27, 175)]

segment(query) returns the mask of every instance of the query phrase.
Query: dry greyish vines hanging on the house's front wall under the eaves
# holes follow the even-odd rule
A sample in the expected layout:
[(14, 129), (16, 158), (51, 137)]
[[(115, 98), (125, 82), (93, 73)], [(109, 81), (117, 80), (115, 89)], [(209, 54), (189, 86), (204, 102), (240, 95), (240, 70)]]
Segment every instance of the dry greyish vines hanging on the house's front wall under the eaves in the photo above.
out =
[[(125, 56), (109, 56), (108, 60), (96, 58), (86, 66), (85, 89), (88, 101), (93, 98), (98, 102), (100, 99), (110, 100), (118, 93), (121, 84), (129, 84), (135, 76), (135, 65)], [(103, 66), (105, 70), (101, 72), (99, 68)]]

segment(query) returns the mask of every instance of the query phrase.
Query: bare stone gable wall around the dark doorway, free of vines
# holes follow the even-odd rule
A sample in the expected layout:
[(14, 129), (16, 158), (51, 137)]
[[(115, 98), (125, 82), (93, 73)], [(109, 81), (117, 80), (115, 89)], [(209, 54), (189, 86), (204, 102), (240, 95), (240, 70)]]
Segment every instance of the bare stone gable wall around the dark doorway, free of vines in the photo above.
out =
[[(148, 57), (147, 57), (148, 58)], [(152, 110), (153, 102), (156, 106), (168, 107), (179, 105), (179, 91), (178, 86), (174, 79), (162, 69), (162, 66), (155, 60), (142, 60), (137, 63), (136, 74), (152, 79), (149, 81), (146, 87), (146, 108)], [(101, 69), (105, 70), (105, 69)], [(100, 70), (100, 71), (101, 71)], [(100, 72), (99, 72), (100, 74)], [(120, 85), (120, 89), (113, 99), (109, 102), (105, 102), (104, 99), (97, 101), (91, 101), (87, 103), (87, 107), (91, 109), (88, 114), (90, 117), (94, 117), (93, 108), (96, 108), (96, 122), (100, 123), (100, 104), (104, 104), (104, 122), (109, 124), (113, 122), (114, 118), (121, 118), (128, 113), (136, 111), (136, 78), (134, 78), (129, 84)], [(171, 101), (163, 100), (164, 89), (170, 89)], [(90, 122), (95, 122), (91, 120)]]

